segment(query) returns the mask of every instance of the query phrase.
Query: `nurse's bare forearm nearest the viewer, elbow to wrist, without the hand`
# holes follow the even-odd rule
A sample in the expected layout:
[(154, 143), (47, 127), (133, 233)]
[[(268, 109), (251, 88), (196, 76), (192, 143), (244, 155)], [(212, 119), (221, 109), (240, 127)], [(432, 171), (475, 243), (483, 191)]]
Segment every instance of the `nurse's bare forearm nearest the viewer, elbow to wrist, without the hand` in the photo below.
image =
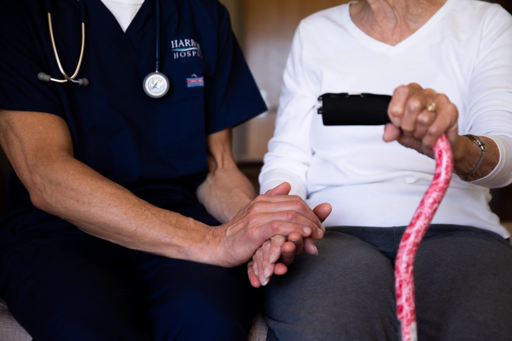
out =
[(70, 156), (34, 165), (28, 186), (39, 209), (125, 247), (166, 257), (211, 263), (211, 228), (159, 209)]

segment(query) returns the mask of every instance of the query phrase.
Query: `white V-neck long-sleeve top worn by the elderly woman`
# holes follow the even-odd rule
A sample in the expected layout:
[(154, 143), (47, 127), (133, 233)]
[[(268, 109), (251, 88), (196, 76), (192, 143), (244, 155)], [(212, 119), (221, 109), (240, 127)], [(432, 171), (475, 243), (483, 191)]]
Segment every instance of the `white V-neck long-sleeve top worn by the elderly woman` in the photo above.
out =
[(297, 28), (284, 73), (261, 192), (288, 181), (314, 207), (332, 204), (326, 226), (403, 226), (433, 178), (435, 161), (382, 140), (383, 126), (324, 126), (324, 93), (391, 95), (411, 82), (446, 94), (459, 133), (484, 135), (498, 166), (466, 183), (454, 175), (433, 223), (471, 225), (509, 237), (490, 211), (489, 188), (512, 183), (512, 17), (499, 5), (447, 0), (396, 46), (368, 36), (349, 4), (315, 13)]

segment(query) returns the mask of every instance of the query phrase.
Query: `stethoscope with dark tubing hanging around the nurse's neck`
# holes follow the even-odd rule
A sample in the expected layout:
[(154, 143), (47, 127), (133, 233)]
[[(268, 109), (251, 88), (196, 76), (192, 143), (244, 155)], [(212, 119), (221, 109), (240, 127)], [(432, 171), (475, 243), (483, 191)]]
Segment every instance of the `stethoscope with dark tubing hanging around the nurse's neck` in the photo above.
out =
[[(77, 0), (80, 5), (80, 20), (82, 26), (82, 43), (80, 48), (80, 57), (78, 58), (78, 64), (76, 65), (75, 72), (73, 75), (69, 76), (63, 69), (62, 63), (60, 62), (59, 54), (57, 52), (57, 47), (55, 46), (55, 38), (53, 36), (53, 26), (52, 26), (52, 14), (51, 14), (51, 0), (46, 0), (46, 12), (48, 15), (48, 28), (50, 29), (50, 39), (52, 41), (53, 53), (55, 55), (55, 60), (57, 61), (57, 65), (59, 67), (60, 73), (64, 79), (53, 78), (52, 76), (45, 74), (44, 72), (40, 72), (37, 74), (37, 79), (45, 82), (57, 82), (57, 83), (66, 83), (73, 82), (80, 86), (88, 86), (89, 80), (87, 78), (79, 78), (75, 79), (80, 71), (80, 66), (82, 64), (83, 59), (83, 50), (86, 43), (86, 10), (83, 5), (83, 1)], [(158, 71), (160, 65), (160, 5), (159, 1), (155, 0), (155, 22), (156, 22), (156, 70), (148, 74), (144, 81), (142, 82), (142, 87), (147, 96), (152, 98), (160, 98), (165, 96), (169, 91), (169, 80), (168, 78)]]

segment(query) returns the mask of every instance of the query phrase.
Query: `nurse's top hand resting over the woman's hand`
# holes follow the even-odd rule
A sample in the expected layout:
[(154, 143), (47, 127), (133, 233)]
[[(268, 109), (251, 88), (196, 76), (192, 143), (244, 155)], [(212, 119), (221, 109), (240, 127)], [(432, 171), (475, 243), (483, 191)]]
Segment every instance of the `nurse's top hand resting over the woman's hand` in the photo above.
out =
[(322, 223), (302, 198), (288, 195), (290, 189), (290, 184), (283, 183), (259, 195), (230, 222), (211, 229), (209, 244), (215, 255), (211, 263), (225, 267), (244, 264), (274, 236), (322, 238)]

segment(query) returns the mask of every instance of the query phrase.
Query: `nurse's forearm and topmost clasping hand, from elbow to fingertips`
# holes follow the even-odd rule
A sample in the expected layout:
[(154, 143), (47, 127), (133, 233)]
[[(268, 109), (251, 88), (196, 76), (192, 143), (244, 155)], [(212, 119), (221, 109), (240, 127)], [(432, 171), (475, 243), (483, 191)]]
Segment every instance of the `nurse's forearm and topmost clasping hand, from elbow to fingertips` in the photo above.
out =
[(274, 235), (323, 236), (318, 218), (286, 195), (286, 186), (211, 227), (141, 200), (70, 156), (44, 157), (34, 169), (28, 188), (40, 209), (99, 238), (169, 258), (231, 267), (246, 263)]

